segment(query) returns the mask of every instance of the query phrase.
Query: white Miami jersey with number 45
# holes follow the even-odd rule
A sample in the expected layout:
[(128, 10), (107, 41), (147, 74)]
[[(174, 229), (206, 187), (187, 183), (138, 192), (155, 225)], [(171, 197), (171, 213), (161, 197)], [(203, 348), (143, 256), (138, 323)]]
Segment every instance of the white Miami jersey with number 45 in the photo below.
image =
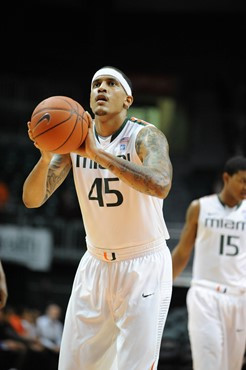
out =
[[(135, 140), (146, 124), (127, 118), (120, 129), (106, 139), (100, 138), (94, 130), (97, 146), (107, 153), (142, 165), (136, 153)], [(90, 245), (116, 250), (169, 238), (163, 217), (163, 199), (134, 190), (88, 158), (71, 153), (71, 159)]]

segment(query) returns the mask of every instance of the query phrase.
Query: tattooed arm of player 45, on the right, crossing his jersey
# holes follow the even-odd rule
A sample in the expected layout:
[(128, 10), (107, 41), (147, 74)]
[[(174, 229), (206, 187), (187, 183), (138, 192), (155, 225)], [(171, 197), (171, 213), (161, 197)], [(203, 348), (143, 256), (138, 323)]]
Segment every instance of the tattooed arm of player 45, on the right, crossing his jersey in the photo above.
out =
[(90, 124), (84, 145), (77, 150), (77, 154), (94, 160), (142, 193), (166, 198), (171, 188), (172, 164), (165, 135), (155, 126), (144, 127), (137, 135), (136, 151), (143, 165), (137, 165), (97, 148)]

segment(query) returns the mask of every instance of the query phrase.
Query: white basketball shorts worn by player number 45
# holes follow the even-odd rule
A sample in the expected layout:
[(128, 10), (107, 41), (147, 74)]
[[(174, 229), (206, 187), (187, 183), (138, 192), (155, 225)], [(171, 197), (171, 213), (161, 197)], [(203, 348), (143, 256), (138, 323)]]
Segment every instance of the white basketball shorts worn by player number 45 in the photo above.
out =
[(88, 245), (67, 307), (58, 369), (157, 369), (171, 293), (164, 239), (116, 252)]

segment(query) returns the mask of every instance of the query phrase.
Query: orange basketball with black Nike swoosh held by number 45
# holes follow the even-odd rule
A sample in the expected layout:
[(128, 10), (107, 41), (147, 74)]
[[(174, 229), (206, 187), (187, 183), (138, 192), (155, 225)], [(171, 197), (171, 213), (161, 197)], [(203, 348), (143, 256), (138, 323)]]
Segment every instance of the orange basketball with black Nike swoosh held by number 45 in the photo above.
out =
[(51, 96), (34, 109), (30, 129), (41, 150), (57, 154), (75, 151), (88, 132), (84, 108), (67, 96)]

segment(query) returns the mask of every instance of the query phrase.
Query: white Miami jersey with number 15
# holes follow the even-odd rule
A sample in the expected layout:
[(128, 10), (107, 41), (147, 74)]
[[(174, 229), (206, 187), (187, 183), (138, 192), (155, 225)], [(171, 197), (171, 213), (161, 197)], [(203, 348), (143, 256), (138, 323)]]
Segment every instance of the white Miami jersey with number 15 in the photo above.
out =
[(193, 279), (246, 288), (246, 200), (232, 208), (216, 194), (199, 201)]

